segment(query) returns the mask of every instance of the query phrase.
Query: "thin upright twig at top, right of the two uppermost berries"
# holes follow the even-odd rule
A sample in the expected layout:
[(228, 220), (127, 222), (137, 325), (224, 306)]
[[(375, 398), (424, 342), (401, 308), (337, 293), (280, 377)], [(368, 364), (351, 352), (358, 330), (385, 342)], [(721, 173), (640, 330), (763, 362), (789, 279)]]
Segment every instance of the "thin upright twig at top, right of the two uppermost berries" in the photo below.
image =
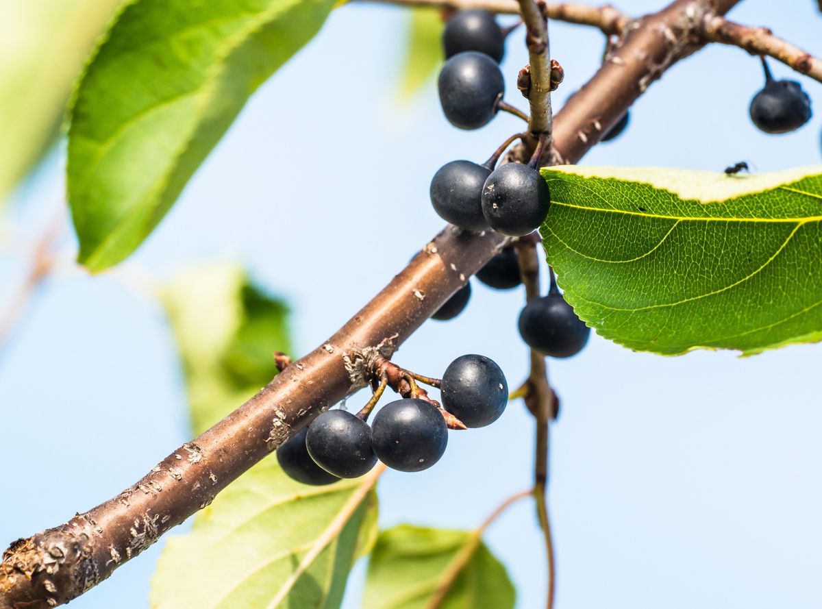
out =
[(525, 44), (528, 46), (529, 86), (531, 106), (529, 131), (544, 138), (551, 146), (551, 49), (548, 45), (548, 24), (543, 11), (534, 0), (520, 0), (520, 12), (525, 24)]

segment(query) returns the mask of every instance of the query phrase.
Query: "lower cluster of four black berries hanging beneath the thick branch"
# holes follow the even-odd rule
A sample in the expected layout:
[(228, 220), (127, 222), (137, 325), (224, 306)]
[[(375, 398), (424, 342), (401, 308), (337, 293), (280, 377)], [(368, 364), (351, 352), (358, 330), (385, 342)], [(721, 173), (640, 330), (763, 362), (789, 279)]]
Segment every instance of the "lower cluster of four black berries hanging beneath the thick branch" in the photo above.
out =
[[(464, 427), (485, 427), (500, 418), (508, 403), (508, 383), (496, 362), (463, 355), (446, 368), (442, 406)], [(446, 451), (448, 426), (429, 399), (397, 399), (383, 406), (369, 426), (370, 410), (322, 413), (277, 450), (284, 472), (305, 484), (330, 484), (358, 478), (380, 459), (401, 472), (420, 472)]]

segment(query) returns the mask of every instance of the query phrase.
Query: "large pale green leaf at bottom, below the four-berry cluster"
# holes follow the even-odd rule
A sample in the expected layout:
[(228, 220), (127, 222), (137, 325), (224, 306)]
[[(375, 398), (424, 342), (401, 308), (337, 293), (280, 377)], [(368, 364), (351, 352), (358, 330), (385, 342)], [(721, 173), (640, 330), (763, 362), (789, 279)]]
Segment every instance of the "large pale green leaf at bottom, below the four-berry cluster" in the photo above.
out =
[[(169, 539), (151, 580), (151, 607), (336, 609), (363, 528), (375, 524), (373, 491), (363, 496), (369, 484), (307, 487), (273, 456), (256, 464), (201, 510), (191, 533)], [(335, 534), (324, 547), (329, 528)]]

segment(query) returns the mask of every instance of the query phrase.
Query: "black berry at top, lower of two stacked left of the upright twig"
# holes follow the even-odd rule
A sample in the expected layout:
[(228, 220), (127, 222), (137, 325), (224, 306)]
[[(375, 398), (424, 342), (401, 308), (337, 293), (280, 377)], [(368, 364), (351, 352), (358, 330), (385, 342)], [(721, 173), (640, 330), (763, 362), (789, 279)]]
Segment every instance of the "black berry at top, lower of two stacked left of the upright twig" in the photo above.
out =
[(485, 53), (464, 51), (450, 58), (437, 80), (440, 104), (448, 121), (460, 129), (478, 129), (496, 116), (505, 81)]

